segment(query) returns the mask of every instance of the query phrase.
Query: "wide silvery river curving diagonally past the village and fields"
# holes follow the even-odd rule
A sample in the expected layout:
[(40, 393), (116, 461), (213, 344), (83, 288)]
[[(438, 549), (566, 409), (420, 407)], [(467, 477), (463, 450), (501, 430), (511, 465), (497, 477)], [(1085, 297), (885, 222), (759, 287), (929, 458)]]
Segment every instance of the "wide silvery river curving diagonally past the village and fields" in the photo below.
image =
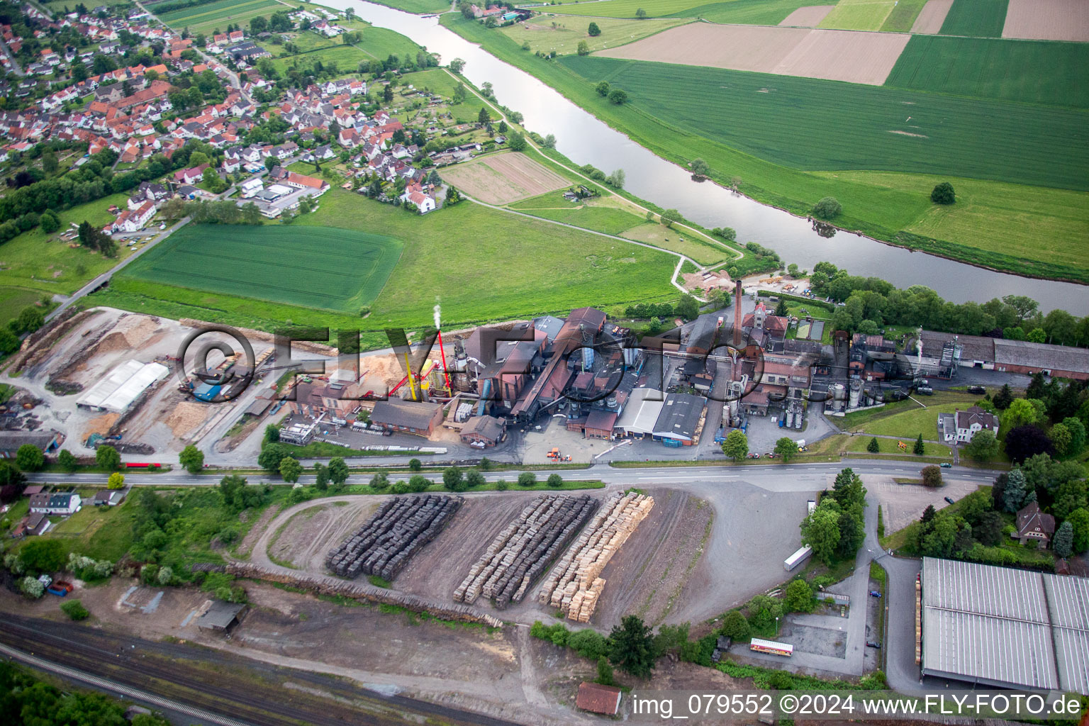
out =
[(900, 287), (926, 285), (955, 303), (1028, 295), (1043, 311), (1063, 308), (1078, 316), (1089, 313), (1089, 295), (1082, 285), (993, 272), (853, 233), (822, 237), (805, 219), (710, 182), (694, 182), (687, 171), (610, 128), (550, 86), (442, 27), (438, 17), (362, 0), (320, 0), (320, 4), (352, 8), (358, 17), (412, 38), (443, 62), (463, 59), (465, 77), (478, 88), (490, 82), (501, 103), (522, 112), (526, 128), (542, 136), (554, 134), (556, 149), (568, 159), (607, 173), (623, 169), (627, 177), (624, 188), (632, 194), (663, 209), (675, 208), (708, 229), (732, 226), (738, 241), (770, 247), (785, 262), (811, 270), (817, 262), (828, 260), (852, 274), (882, 278)]

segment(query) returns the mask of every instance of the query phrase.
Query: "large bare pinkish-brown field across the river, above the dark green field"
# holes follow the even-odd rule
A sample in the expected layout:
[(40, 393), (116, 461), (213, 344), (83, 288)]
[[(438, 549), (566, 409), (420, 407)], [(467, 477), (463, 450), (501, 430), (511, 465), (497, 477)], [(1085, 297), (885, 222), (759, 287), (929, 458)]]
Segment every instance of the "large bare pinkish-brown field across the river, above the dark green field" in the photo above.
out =
[(881, 85), (909, 39), (892, 33), (697, 23), (596, 56), (680, 65), (698, 59), (699, 67)]

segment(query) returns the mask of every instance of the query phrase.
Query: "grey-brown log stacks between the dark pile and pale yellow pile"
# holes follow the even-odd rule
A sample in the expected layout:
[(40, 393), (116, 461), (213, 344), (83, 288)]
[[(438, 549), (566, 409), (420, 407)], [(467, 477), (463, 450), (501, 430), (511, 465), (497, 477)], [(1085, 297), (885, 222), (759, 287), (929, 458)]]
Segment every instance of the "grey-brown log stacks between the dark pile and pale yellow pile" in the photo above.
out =
[(492, 540), (454, 590), (454, 600), (473, 603), (484, 595), (497, 607), (521, 602), (597, 506), (598, 501), (587, 494), (538, 496)]

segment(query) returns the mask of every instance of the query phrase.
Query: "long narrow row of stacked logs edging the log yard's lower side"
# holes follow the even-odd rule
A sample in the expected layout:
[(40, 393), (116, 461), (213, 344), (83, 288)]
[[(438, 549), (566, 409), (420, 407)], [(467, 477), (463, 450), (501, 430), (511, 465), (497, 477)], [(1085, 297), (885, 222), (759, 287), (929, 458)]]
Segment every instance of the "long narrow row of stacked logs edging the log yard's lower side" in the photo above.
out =
[(394, 590), (376, 588), (362, 582), (347, 582), (337, 580), (331, 577), (295, 575), (289, 573), (273, 571), (253, 565), (250, 563), (230, 563), (227, 571), (235, 577), (252, 580), (262, 580), (266, 582), (280, 582), (301, 588), (319, 595), (340, 595), (369, 603), (380, 603), (386, 605), (397, 605), (411, 610), (415, 613), (427, 613), (444, 620), (456, 620), (460, 623), (482, 623), (493, 628), (503, 627), (503, 622), (498, 617), (487, 613), (478, 613), (467, 605), (448, 605), (436, 603), (416, 595), (408, 595)]

